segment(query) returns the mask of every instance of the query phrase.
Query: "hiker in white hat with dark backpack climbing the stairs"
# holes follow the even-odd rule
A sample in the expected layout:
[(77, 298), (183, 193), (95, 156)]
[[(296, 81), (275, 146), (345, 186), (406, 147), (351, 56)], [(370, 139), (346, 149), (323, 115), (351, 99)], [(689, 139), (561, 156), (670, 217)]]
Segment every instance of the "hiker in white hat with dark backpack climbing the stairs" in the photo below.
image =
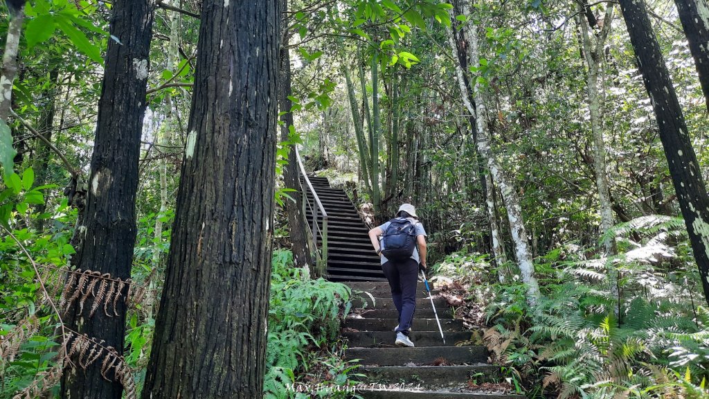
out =
[(391, 288), (391, 299), (398, 311), (395, 344), (414, 346), (411, 332), (416, 310), (418, 268), (426, 268), (426, 231), (418, 221), (412, 204), (403, 204), (396, 217), (369, 230), (374, 251), (381, 256), (381, 269)]

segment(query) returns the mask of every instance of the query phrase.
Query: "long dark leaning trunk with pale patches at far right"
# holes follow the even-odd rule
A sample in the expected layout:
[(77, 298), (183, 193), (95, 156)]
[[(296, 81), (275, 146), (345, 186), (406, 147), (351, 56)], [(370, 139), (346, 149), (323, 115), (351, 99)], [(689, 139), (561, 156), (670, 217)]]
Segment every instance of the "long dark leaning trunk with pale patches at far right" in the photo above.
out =
[(660, 140), (709, 303), (709, 197), (697, 157), (644, 2), (620, 0), (620, 9), (645, 89), (652, 100)]

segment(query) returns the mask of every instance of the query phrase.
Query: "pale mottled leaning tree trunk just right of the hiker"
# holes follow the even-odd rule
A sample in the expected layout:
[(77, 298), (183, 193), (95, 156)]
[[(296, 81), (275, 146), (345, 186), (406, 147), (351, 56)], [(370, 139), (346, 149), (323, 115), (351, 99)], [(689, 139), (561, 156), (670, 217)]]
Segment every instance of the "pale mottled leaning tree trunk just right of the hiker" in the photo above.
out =
[[(463, 10), (463, 13), (464, 15), (470, 15), (469, 10), (466, 9)], [(454, 18), (454, 16), (452, 16), (452, 18)], [(468, 48), (469, 65), (478, 67), (479, 53), (476, 26), (469, 22), (469, 26), (466, 26), (464, 29), (465, 40)], [(532, 256), (529, 251), (527, 229), (525, 228), (525, 222), (522, 217), (522, 206), (515, 188), (504, 170), (502, 170), (497, 156), (492, 150), (490, 132), (486, 129), (485, 103), (482, 98), (482, 92), (479, 84), (475, 83), (473, 85), (475, 100), (475, 106), (473, 106), (469, 99), (468, 89), (465, 85), (464, 72), (460, 66), (459, 53), (457, 52), (457, 46), (455, 45), (453, 33), (450, 28), (447, 29), (447, 31), (452, 54), (454, 59), (457, 61), (455, 62), (456, 75), (463, 104), (465, 104), (466, 109), (471, 115), (476, 116), (477, 149), (488, 167), (493, 182), (497, 183), (498, 187), (500, 187), (500, 191), (502, 192), (503, 201), (505, 202), (507, 209), (508, 221), (510, 223), (510, 232), (515, 244), (515, 258), (520, 268), (520, 273), (522, 274), (522, 280), (527, 285), (527, 302), (534, 306), (540, 299), (541, 294), (539, 284), (535, 278)]]

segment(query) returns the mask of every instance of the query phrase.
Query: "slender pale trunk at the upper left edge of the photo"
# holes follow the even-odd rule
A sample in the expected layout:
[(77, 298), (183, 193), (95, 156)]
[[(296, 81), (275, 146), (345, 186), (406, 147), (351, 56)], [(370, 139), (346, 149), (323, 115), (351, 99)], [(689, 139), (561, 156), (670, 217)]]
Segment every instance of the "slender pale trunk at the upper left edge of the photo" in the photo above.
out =
[[(17, 1), (13, 3), (17, 3)], [(18, 9), (13, 6), (9, 8), (11, 9), (10, 23), (7, 27), (7, 38), (0, 71), (0, 120), (6, 123), (8, 116), (10, 116), (12, 85), (17, 75), (17, 53), (20, 47), (20, 36), (22, 35), (22, 22), (25, 19), (24, 1)]]

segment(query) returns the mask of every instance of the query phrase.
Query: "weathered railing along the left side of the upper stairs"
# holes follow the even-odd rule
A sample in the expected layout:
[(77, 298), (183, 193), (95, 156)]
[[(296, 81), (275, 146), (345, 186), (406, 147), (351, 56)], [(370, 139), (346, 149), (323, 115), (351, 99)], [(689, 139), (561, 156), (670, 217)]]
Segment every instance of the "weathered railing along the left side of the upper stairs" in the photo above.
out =
[[(298, 185), (300, 185), (301, 209), (303, 229), (308, 236), (308, 248), (310, 248), (311, 259), (316, 261), (315, 271), (318, 277), (325, 277), (328, 268), (328, 212), (325, 212), (323, 203), (320, 202), (318, 193), (313, 188), (313, 183), (308, 179), (303, 159), (298, 152), (296, 145), (296, 158), (298, 158)], [(301, 180), (302, 177), (302, 180)], [(305, 185), (303, 185), (305, 182)], [(308, 193), (312, 199), (308, 197)], [(307, 207), (307, 208), (306, 208)], [(306, 209), (310, 209), (311, 218), (308, 219)], [(322, 219), (320, 219), (322, 216)], [(318, 220), (320, 219), (320, 220)]]

